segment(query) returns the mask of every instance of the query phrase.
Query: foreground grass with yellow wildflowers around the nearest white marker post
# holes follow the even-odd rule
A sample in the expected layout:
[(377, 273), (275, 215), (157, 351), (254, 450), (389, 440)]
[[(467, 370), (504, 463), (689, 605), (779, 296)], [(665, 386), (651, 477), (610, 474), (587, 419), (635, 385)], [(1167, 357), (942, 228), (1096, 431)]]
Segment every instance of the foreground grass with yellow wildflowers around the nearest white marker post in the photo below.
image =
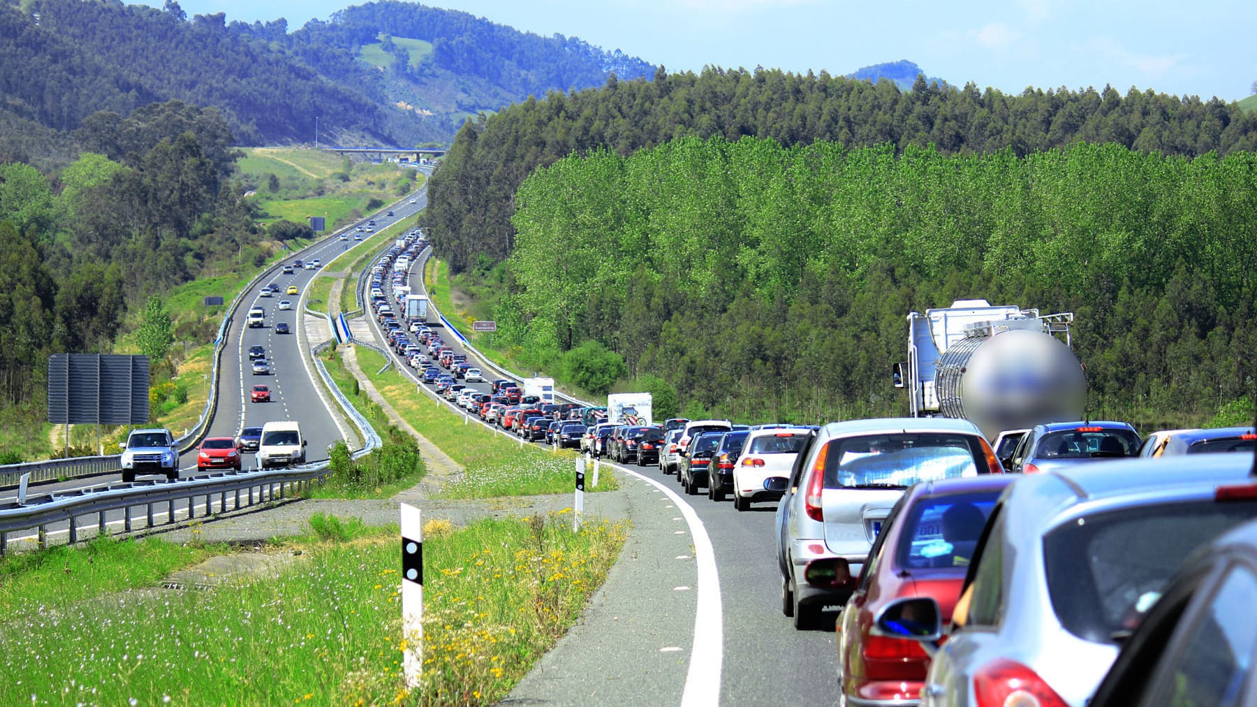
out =
[[(97, 587), (101, 600), (10, 614), (0, 703), (206, 704), (229, 694), (241, 704), (490, 704), (577, 619), (626, 533), (607, 522), (573, 533), (556, 516), (427, 523), (414, 693), (401, 676), (395, 535), (313, 545), (278, 579), (113, 596)], [(122, 566), (101, 561), (101, 571)], [(26, 591), (59, 596), (67, 582), (53, 570), (31, 572)]]

